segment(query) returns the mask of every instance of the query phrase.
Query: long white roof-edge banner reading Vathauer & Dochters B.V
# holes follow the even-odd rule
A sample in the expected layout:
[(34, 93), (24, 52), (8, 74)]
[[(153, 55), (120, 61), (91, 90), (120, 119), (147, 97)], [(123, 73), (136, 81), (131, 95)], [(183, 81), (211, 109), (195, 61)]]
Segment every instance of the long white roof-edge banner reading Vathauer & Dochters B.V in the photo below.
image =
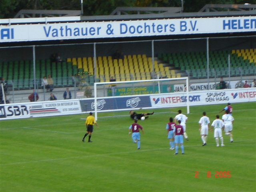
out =
[(255, 16), (0, 25), (0, 42), (256, 32)]

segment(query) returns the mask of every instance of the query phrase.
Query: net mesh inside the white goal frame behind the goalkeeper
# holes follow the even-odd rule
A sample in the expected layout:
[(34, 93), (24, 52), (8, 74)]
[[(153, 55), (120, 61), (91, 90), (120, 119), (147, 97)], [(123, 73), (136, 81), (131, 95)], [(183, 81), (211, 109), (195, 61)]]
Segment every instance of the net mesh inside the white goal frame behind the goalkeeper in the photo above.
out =
[[(168, 78), (130, 82), (104, 82), (94, 85), (95, 99), (91, 104), (95, 116), (98, 112), (170, 108), (187, 106), (187, 78)], [(176, 85), (184, 85), (184, 91), (175, 92)], [(97, 106), (97, 107), (96, 107)]]

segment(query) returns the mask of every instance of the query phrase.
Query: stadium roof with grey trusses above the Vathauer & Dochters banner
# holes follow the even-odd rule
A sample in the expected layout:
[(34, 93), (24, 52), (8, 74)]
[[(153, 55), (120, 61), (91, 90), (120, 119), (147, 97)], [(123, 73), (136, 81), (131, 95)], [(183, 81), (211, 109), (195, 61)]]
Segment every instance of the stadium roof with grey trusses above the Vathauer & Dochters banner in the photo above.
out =
[[(110, 15), (75, 16), (80, 10), (21, 10), (17, 17), (39, 18), (1, 19), (0, 24), (142, 20), (164, 18), (202, 18), (220, 16), (256, 16), (256, 4), (207, 4), (199, 12), (182, 12), (181, 7), (118, 7)], [(51, 17), (61, 15), (61, 17)]]

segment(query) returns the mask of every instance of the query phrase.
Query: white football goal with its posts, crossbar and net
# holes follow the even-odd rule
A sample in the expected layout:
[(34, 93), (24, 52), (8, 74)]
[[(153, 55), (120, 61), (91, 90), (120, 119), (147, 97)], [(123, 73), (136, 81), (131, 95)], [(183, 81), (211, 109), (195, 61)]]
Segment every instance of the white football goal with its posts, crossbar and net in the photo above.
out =
[[(152, 98), (154, 96), (158, 97), (158, 101), (162, 100), (161, 96), (170, 97), (172, 95), (176, 96), (178, 93), (175, 93), (174, 84), (183, 84), (184, 91), (179, 92), (179, 95), (182, 96), (182, 103), (180, 105), (176, 104), (173, 107), (186, 106), (187, 114), (190, 113), (189, 110), (189, 83), (188, 77), (181, 78), (164, 78), (164, 79), (150, 79), (150, 80), (132, 80), (132, 81), (114, 81), (114, 82), (96, 82), (94, 83), (94, 103), (92, 104), (92, 109), (94, 108), (95, 119), (98, 119), (99, 111), (121, 111), (121, 110), (133, 110), (143, 108), (170, 108), (172, 106), (157, 106), (150, 105), (152, 104)], [(121, 86), (121, 87), (120, 87)], [(172, 86), (172, 88), (171, 88)], [(141, 88), (142, 87), (142, 88)], [(142, 89), (149, 88), (149, 91), (141, 91)], [(172, 91), (168, 91), (168, 89)], [(118, 91), (116, 91), (118, 89)], [(120, 93), (120, 90), (123, 90)], [(130, 91), (133, 90), (133, 91)], [(140, 91), (137, 91), (140, 90)], [(112, 93), (111, 93), (112, 92)], [(117, 93), (118, 92), (118, 93)], [(116, 95), (117, 94), (117, 95)], [(169, 100), (170, 100), (169, 98)], [(177, 98), (179, 98), (177, 96)], [(176, 99), (177, 99), (176, 98)], [(151, 101), (150, 101), (151, 99)], [(139, 102), (142, 102), (142, 107), (138, 105)], [(108, 102), (110, 101), (110, 102)], [(157, 102), (157, 100), (156, 100)], [(110, 104), (109, 104), (110, 103)], [(122, 104), (126, 103), (126, 106)], [(104, 110), (102, 106), (112, 105), (112, 107)], [(136, 105), (137, 104), (137, 105)], [(102, 109), (103, 108), (103, 109)]]

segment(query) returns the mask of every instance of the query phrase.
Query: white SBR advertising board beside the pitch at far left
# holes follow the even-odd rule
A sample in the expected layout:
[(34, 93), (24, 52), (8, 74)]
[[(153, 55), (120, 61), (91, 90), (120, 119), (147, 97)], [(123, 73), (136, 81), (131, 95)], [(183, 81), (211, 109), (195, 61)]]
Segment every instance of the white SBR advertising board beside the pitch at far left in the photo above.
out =
[(79, 100), (0, 105), (0, 120), (81, 113)]

